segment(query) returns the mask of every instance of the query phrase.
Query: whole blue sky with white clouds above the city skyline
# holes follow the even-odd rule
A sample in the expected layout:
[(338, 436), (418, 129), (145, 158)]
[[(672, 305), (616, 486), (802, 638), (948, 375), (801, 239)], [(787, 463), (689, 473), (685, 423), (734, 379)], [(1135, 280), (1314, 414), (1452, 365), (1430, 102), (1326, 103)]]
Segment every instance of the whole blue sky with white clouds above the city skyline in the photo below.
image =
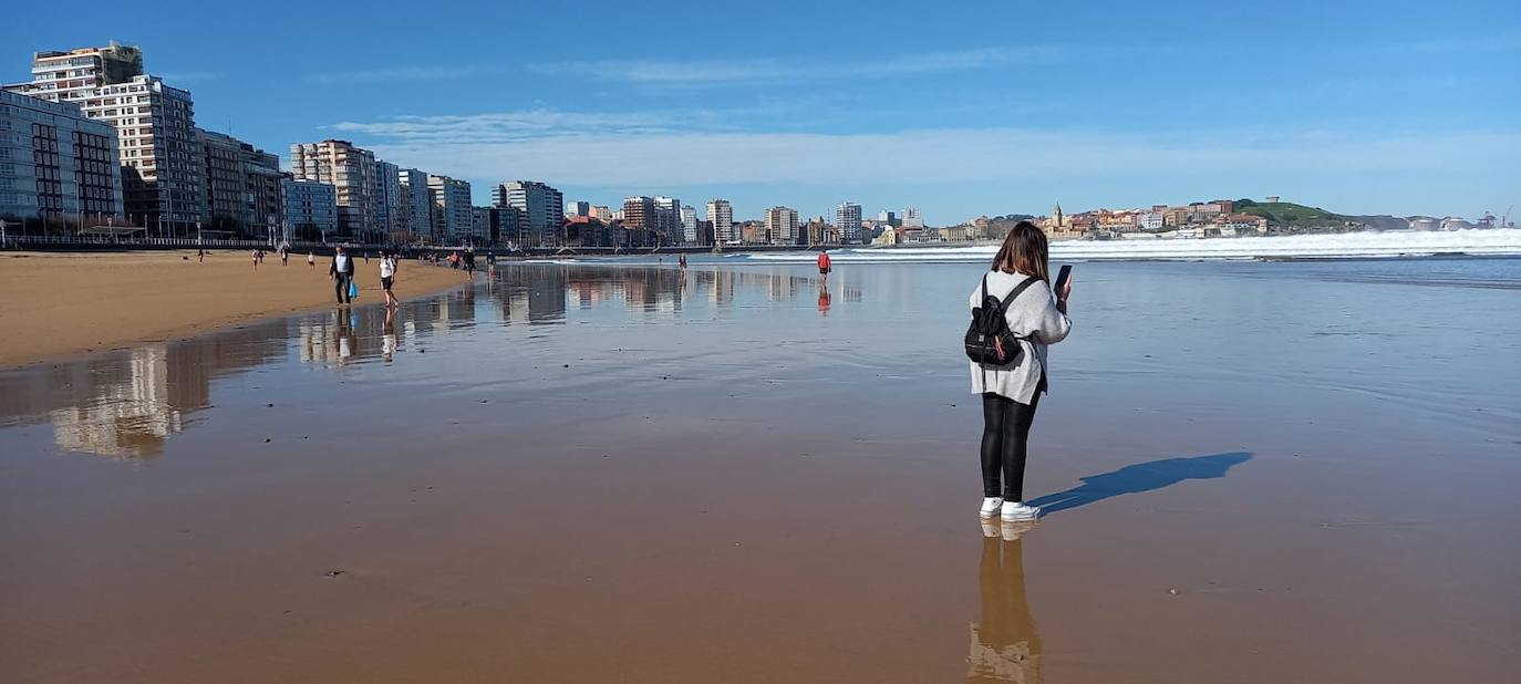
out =
[[(1240, 5), (1240, 6), (1238, 6)], [(1214, 198), (1521, 204), (1521, 3), (17, 3), (30, 53), (143, 47), (202, 128), (287, 157), (543, 179), (616, 205), (840, 201), (935, 225)]]

